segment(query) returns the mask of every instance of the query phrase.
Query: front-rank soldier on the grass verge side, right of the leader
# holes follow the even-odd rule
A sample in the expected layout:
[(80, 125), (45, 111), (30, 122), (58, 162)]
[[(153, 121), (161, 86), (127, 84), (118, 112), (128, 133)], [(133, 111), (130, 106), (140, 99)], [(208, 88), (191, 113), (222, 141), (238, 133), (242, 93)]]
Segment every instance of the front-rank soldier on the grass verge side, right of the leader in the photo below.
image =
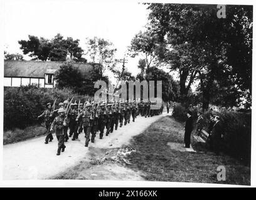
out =
[(92, 104), (88, 103), (85, 104), (85, 109), (80, 116), (77, 116), (76, 121), (82, 116), (82, 124), (83, 124), (83, 132), (85, 133), (85, 147), (88, 147), (90, 141), (90, 132), (92, 129), (92, 112), (91, 112)]

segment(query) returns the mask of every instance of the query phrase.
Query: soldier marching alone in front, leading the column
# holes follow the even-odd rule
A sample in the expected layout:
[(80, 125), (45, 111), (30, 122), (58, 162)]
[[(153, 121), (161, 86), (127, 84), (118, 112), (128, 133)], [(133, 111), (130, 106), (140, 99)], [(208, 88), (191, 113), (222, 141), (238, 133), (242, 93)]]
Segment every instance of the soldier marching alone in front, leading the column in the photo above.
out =
[(56, 130), (55, 130), (55, 134), (56, 134), (56, 138), (58, 139), (58, 150), (57, 150), (57, 156), (60, 155), (60, 151), (62, 149), (62, 152), (65, 151), (65, 144), (64, 144), (64, 137), (65, 137), (65, 133), (64, 133), (64, 118), (65, 118), (65, 109), (60, 108), (58, 110), (58, 113), (60, 114), (59, 116), (57, 116), (54, 120), (53, 123), (51, 124), (51, 129), (50, 131), (53, 131), (53, 128), (55, 128), (56, 126)]

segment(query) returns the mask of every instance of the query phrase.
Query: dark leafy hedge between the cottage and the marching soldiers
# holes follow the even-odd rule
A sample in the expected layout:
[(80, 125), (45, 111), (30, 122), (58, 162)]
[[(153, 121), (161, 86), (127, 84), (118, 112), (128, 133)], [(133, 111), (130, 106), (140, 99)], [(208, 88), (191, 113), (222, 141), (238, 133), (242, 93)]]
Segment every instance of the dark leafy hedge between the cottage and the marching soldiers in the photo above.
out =
[[(67, 98), (81, 99), (85, 102), (88, 96), (73, 94), (69, 89), (46, 89), (36, 86), (23, 86), (20, 88), (4, 88), (4, 130), (20, 128), (39, 124), (43, 121), (37, 120), (46, 108), (48, 102), (53, 103), (56, 98), (56, 105)], [(57, 108), (57, 107), (56, 107)]]

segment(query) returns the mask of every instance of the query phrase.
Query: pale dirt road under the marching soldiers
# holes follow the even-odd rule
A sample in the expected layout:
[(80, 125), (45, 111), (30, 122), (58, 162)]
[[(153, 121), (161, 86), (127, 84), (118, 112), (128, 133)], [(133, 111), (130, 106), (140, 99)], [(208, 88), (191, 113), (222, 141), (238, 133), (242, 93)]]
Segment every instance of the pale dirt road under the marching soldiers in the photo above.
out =
[[(65, 169), (75, 166), (81, 159), (90, 157), (88, 151), (91, 148), (119, 148), (128, 144), (132, 136), (142, 133), (151, 123), (166, 116), (152, 118), (142, 118), (139, 116), (136, 121), (117, 131), (110, 133), (103, 139), (99, 139), (99, 132), (95, 138), (95, 143), (89, 143), (89, 148), (85, 148), (84, 134), (79, 135), (80, 141), (69, 141), (65, 143), (67, 148), (60, 156), (56, 156), (56, 137), (49, 144), (44, 144), (45, 138), (30, 139), (28, 141), (7, 144), (3, 148), (3, 179), (46, 179), (55, 174), (65, 171)], [(104, 133), (105, 134), (105, 133)]]

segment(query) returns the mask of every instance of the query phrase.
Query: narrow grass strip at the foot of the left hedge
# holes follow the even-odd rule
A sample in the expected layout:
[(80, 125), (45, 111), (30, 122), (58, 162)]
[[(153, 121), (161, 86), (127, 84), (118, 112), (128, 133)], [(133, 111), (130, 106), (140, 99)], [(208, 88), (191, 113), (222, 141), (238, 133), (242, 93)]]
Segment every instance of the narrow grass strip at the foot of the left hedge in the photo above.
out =
[(10, 131), (4, 131), (3, 143), (11, 144), (19, 141), (24, 141), (29, 138), (35, 138), (37, 136), (43, 136), (46, 133), (45, 126), (35, 125), (29, 126), (25, 129), (14, 129)]

